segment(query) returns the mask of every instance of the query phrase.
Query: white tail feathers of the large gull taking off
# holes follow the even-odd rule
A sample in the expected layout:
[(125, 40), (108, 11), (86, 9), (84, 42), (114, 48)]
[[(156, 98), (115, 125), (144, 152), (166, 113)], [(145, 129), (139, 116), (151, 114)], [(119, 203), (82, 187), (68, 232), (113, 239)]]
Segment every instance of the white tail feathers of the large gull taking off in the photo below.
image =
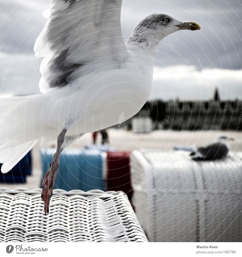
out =
[(2, 173), (11, 170), (42, 137), (39, 100), (38, 96), (0, 98)]

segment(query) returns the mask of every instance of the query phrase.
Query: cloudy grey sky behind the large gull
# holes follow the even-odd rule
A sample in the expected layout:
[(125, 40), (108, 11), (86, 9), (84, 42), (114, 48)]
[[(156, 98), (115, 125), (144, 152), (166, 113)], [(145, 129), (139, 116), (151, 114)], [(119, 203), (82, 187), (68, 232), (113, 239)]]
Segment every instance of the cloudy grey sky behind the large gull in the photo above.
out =
[[(0, 93), (39, 93), (40, 60), (33, 46), (48, 5), (49, 0), (1, 0)], [(196, 21), (202, 30), (179, 31), (159, 44), (151, 99), (208, 99), (215, 87), (221, 98), (242, 99), (242, 0), (123, 0), (124, 38), (152, 12)]]

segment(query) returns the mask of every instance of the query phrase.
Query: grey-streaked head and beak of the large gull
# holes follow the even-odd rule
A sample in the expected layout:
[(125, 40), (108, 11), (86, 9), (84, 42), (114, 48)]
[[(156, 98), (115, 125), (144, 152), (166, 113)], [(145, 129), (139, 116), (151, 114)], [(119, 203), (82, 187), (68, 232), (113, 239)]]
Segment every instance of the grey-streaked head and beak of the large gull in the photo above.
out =
[(138, 43), (155, 40), (161, 41), (167, 35), (180, 30), (200, 30), (194, 21), (180, 21), (170, 15), (152, 13), (144, 18), (132, 34), (132, 40)]

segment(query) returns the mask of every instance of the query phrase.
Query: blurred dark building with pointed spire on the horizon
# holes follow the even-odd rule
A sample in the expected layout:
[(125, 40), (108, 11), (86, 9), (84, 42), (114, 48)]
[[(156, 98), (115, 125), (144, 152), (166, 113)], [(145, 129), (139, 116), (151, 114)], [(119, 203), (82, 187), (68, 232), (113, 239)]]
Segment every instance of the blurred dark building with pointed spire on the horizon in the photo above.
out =
[[(147, 102), (135, 117), (150, 117), (153, 129), (242, 130), (242, 100), (220, 100), (216, 89), (214, 98), (208, 101)], [(131, 120), (123, 125), (132, 128)]]

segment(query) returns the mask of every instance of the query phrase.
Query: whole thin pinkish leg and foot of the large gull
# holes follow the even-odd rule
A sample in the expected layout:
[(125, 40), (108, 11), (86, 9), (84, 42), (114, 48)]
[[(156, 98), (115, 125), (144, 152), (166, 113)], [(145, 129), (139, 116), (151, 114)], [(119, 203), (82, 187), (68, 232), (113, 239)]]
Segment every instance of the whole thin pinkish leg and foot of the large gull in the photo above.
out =
[(67, 130), (63, 129), (57, 139), (57, 149), (51, 162), (50, 169), (46, 172), (42, 183), (41, 199), (44, 201), (44, 212), (49, 213), (50, 199), (53, 192), (55, 177), (60, 164), (60, 154), (63, 150), (64, 138)]

